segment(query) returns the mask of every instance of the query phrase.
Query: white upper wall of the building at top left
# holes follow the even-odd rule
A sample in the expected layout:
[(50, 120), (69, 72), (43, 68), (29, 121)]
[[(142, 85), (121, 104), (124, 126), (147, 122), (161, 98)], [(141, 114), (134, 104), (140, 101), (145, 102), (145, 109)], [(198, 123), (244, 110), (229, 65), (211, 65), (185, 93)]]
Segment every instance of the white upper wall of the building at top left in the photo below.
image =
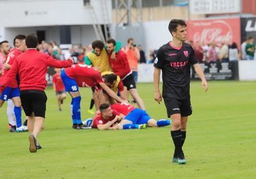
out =
[[(0, 22), (3, 27), (111, 23), (110, 0), (91, 0), (91, 4), (95, 11), (84, 6), (83, 0), (2, 0), (0, 1)], [(105, 14), (108, 14), (109, 18), (106, 18)]]

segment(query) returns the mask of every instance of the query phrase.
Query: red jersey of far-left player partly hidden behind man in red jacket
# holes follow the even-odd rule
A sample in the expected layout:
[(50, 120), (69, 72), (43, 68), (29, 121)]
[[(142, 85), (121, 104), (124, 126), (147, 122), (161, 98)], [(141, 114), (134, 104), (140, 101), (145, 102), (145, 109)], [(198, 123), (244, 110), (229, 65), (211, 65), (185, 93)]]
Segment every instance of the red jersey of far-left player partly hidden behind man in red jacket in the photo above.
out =
[[(13, 65), (13, 62), (17, 60), (17, 57), (20, 54), (22, 54), (22, 51), (20, 51), (20, 49), (11, 49), (10, 52), (8, 53), (7, 58), (6, 58), (6, 63), (8, 63), (9, 65)], [(4, 80), (4, 78), (6, 77), (6, 75), (8, 74), (9, 71), (10, 71), (10, 69), (6, 70), (4, 68), (4, 72), (0, 77), (0, 81)], [(16, 76), (13, 79), (10, 79), (7, 86), (10, 87), (10, 88), (17, 88), (18, 87)]]

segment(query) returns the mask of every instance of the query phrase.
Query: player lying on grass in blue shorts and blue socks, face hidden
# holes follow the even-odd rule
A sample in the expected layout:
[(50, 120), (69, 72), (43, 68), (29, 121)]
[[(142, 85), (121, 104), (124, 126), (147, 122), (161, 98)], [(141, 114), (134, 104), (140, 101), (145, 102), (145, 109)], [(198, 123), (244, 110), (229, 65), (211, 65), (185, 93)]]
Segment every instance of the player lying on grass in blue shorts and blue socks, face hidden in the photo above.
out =
[(138, 109), (131, 104), (113, 104), (111, 105), (111, 109), (125, 115), (124, 120), (120, 121), (116, 126), (118, 129), (137, 128), (138, 125), (143, 124), (147, 124), (146, 127), (164, 127), (171, 124), (170, 120), (154, 120), (146, 111)]

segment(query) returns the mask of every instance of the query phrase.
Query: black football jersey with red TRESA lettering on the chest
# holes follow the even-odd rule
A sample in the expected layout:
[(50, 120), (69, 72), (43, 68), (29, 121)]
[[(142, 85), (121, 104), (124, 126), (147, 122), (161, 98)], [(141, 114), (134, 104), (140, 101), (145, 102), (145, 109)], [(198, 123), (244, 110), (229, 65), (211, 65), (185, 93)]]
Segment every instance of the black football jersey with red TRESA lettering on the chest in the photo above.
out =
[(181, 47), (173, 47), (170, 42), (157, 51), (154, 67), (163, 73), (163, 98), (189, 98), (191, 65), (198, 63), (193, 47), (182, 43)]

